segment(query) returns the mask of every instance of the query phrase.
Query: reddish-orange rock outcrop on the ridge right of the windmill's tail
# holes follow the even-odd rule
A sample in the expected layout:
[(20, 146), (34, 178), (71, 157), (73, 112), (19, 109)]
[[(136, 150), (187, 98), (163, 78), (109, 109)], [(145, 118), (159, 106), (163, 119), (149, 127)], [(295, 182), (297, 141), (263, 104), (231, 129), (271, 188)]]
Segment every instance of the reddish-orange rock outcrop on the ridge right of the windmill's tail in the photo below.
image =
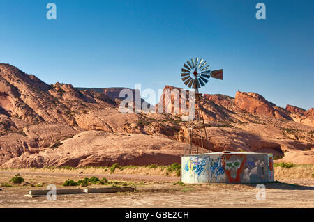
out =
[(262, 95), (257, 93), (242, 93), (237, 91), (234, 102), (236, 106), (248, 113), (257, 113), (292, 120), (292, 118), (285, 113), (284, 109), (268, 102)]

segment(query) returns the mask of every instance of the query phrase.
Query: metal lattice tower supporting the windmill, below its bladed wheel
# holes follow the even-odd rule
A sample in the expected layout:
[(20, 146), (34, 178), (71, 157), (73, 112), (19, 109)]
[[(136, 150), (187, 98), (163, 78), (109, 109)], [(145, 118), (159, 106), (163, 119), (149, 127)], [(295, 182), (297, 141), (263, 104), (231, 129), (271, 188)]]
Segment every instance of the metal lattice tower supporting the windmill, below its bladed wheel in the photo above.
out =
[[(207, 141), (207, 132), (206, 126), (204, 123), (204, 116), (200, 106), (200, 99), (201, 95), (198, 93), (198, 89), (195, 90), (195, 116), (190, 122), (188, 122), (188, 135), (186, 138), (186, 148), (184, 150), (184, 154), (193, 154), (193, 146), (195, 146), (196, 154), (199, 153), (198, 145), (193, 145), (193, 136), (197, 133), (197, 129), (200, 129), (200, 142), (201, 147), (204, 148), (204, 142)], [(196, 130), (195, 130), (196, 129)], [(203, 138), (203, 131), (204, 131), (204, 138)]]

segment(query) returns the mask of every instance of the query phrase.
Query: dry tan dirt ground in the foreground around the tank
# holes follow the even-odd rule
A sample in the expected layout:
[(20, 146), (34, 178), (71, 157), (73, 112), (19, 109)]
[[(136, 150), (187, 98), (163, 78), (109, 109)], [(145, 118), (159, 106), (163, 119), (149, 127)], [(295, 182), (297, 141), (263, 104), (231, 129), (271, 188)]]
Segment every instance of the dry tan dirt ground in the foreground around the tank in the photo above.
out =
[[(0, 172), (0, 182), (8, 182), (13, 171)], [(266, 200), (257, 200), (256, 184), (184, 184), (174, 185), (179, 177), (160, 175), (88, 175), (69, 173), (21, 173), (29, 184), (43, 187), (1, 187), (0, 207), (314, 207), (314, 180), (287, 179), (267, 183)], [(137, 187), (135, 193), (89, 193), (57, 196), (56, 201), (46, 197), (24, 196), (31, 189), (45, 189), (47, 184), (57, 185), (65, 180), (84, 177), (106, 177), (125, 181)], [(105, 187), (93, 185), (91, 187)], [(72, 188), (72, 187), (71, 187)], [(73, 187), (75, 188), (75, 187)]]

